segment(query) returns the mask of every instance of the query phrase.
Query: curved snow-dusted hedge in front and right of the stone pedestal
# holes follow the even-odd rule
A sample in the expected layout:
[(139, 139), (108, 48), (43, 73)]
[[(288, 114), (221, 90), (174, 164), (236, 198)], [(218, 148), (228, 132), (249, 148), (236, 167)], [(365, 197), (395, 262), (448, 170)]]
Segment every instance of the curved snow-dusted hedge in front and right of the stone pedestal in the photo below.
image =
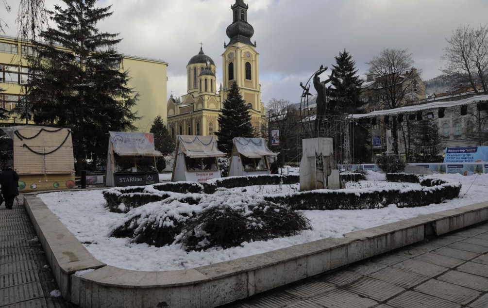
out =
[[(412, 174), (404, 174), (411, 179)], [(415, 174), (413, 174), (415, 175)], [(267, 195), (265, 200), (289, 206), (295, 210), (361, 210), (384, 208), (396, 204), (399, 208), (439, 204), (453, 199), (461, 191), (461, 183), (445, 182), (435, 177), (415, 176), (421, 188), (404, 189), (345, 189), (315, 190), (291, 194)]]

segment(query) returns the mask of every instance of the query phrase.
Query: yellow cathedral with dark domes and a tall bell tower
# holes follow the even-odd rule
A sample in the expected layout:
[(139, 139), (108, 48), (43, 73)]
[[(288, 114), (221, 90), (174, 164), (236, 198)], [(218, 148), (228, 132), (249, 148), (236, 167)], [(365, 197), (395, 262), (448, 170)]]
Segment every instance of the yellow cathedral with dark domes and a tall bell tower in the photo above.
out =
[(236, 82), (251, 115), (256, 133), (261, 133), (266, 122), (264, 103), (261, 102), (259, 84), (259, 54), (256, 41), (251, 42), (254, 28), (247, 23), (244, 0), (236, 0), (231, 6), (232, 23), (227, 27), (229, 42), (224, 43), (222, 54), (222, 80), (219, 90), (216, 85), (217, 67), (212, 58), (200, 48), (186, 65), (187, 91), (181, 98), (170, 96), (167, 105), (168, 131), (176, 135), (214, 135), (219, 131), (218, 118), (228, 89)]

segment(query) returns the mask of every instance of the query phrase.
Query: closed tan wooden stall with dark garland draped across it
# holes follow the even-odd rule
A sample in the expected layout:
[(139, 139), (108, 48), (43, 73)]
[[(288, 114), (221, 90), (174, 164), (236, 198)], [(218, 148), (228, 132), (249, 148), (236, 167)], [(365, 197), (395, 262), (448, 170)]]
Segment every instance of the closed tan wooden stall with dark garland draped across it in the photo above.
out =
[(34, 125), (1, 129), (14, 141), (14, 170), (20, 175), (21, 192), (75, 187), (71, 130)]

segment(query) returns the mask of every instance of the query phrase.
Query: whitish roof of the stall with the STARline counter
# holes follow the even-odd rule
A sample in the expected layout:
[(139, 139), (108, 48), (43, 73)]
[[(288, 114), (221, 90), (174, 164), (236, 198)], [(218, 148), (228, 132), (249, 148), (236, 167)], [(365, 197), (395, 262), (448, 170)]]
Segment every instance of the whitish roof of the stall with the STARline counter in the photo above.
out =
[(120, 156), (163, 156), (154, 149), (152, 133), (109, 133), (113, 150)]

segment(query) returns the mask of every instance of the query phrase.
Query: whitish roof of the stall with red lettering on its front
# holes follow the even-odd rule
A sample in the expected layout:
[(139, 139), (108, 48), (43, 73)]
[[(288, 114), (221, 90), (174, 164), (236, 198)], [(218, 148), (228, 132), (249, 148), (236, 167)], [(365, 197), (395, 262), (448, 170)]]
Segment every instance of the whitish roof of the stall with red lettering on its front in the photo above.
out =
[(224, 152), (217, 148), (217, 140), (212, 136), (178, 135), (180, 149), (188, 157), (220, 157)]

